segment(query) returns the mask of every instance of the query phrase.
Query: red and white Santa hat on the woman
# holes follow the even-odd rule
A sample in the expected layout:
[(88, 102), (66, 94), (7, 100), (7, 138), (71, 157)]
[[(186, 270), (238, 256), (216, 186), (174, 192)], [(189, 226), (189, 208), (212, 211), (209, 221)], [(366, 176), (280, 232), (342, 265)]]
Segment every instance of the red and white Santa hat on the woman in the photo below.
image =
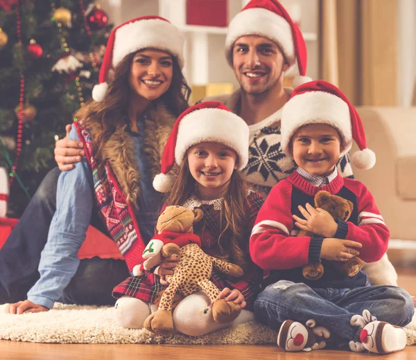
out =
[(92, 90), (92, 98), (96, 101), (103, 100), (108, 89), (108, 72), (116, 67), (125, 55), (144, 48), (157, 48), (177, 57), (182, 68), (184, 66), (183, 47), (184, 35), (163, 17), (137, 17), (117, 26), (108, 37), (98, 77), (99, 84)]

